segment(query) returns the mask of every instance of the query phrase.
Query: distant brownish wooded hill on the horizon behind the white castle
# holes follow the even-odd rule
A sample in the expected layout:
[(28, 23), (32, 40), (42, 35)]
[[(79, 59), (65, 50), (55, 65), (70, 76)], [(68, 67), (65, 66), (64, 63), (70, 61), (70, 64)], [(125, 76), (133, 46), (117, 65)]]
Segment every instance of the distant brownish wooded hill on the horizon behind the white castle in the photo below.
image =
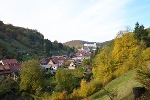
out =
[[(72, 40), (72, 41), (65, 42), (64, 45), (78, 49), (78, 48), (82, 48), (84, 43), (87, 43), (87, 42), (88, 41), (83, 41), (83, 40)], [(102, 43), (97, 42), (96, 44), (98, 47), (104, 47), (105, 45), (109, 44), (110, 42), (111, 42), (111, 40), (105, 41)]]

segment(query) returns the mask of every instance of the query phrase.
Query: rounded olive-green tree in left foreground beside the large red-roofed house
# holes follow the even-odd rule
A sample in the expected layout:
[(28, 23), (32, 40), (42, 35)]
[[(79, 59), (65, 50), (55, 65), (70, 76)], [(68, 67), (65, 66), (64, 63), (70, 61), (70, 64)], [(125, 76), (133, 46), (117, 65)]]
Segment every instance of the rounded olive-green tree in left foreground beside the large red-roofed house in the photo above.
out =
[(39, 92), (43, 85), (43, 73), (37, 60), (25, 61), (20, 72), (20, 90), (30, 93)]

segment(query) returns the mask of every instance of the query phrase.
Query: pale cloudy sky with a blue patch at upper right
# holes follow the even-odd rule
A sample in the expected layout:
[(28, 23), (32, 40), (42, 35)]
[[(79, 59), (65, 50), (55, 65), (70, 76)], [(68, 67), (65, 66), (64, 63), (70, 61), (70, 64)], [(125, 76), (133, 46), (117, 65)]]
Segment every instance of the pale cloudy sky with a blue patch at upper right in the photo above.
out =
[(150, 0), (0, 0), (0, 20), (52, 42), (104, 42), (136, 22), (149, 28)]

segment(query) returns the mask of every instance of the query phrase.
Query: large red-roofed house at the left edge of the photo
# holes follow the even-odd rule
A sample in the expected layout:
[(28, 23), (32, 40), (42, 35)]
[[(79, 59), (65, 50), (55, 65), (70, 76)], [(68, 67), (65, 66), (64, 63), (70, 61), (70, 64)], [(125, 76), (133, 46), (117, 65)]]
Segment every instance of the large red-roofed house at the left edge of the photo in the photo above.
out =
[(0, 60), (0, 77), (10, 75), (13, 78), (18, 77), (18, 72), (21, 69), (21, 64), (16, 59)]

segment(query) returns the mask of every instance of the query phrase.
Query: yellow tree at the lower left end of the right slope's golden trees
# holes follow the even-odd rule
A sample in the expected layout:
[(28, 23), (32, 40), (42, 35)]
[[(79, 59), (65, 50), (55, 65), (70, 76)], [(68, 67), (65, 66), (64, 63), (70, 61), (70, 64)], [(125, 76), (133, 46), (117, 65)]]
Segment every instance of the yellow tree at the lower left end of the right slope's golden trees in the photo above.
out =
[(94, 66), (92, 68), (93, 77), (95, 80), (102, 83), (107, 83), (112, 78), (114, 66), (111, 65), (112, 55), (111, 46), (105, 46), (100, 54), (96, 55)]

